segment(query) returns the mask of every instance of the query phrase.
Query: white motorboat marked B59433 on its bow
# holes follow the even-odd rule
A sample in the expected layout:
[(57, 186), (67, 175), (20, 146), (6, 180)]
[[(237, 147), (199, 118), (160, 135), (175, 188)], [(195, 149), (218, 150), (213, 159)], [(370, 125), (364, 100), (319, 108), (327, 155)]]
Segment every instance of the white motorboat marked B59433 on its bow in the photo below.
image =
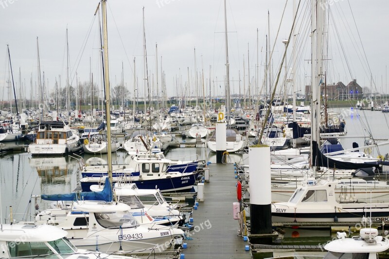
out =
[(141, 225), (130, 209), (124, 203), (77, 201), (71, 209), (65, 208), (65, 215), (57, 210), (38, 213), (35, 224), (53, 224), (66, 230), (67, 238), (76, 247), (103, 253), (164, 251), (168, 248), (165, 243), (184, 235), (177, 228)]

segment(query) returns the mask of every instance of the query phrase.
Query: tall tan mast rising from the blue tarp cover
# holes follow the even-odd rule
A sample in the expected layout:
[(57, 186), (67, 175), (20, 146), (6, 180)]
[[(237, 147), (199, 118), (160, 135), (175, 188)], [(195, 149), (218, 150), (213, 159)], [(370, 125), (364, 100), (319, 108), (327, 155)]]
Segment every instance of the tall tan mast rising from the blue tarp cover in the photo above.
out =
[[(107, 163), (108, 163), (108, 178), (112, 184), (112, 147), (111, 147), (111, 116), (109, 112), (110, 98), (109, 98), (109, 73), (108, 73), (108, 35), (106, 28), (106, 0), (102, 0), (103, 13), (103, 51), (104, 51), (104, 82), (106, 85), (106, 145), (107, 145)], [(116, 195), (114, 195), (116, 201)]]

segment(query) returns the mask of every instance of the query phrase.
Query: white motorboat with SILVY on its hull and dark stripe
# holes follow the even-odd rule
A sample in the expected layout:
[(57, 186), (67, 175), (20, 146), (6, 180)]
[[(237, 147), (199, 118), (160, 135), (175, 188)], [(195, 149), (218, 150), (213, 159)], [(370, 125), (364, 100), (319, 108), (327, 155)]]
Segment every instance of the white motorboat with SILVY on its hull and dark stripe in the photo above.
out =
[[(273, 222), (361, 222), (370, 217), (380, 221), (389, 216), (389, 203), (336, 201), (335, 181), (301, 186), (288, 202), (273, 203)], [(368, 191), (366, 197), (370, 196)]]

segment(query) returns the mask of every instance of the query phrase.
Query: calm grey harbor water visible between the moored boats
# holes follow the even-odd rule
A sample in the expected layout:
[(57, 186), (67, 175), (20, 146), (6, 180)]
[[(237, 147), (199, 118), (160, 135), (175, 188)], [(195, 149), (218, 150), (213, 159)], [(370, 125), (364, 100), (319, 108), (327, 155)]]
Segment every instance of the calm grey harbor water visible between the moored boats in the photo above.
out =
[[(389, 114), (379, 111), (361, 111), (353, 109), (336, 110), (341, 112), (346, 121), (347, 136), (372, 135), (374, 138), (389, 137)], [(181, 141), (180, 137), (177, 137)], [(186, 142), (194, 141), (184, 139)], [(364, 144), (363, 138), (343, 138), (340, 140), (344, 148), (351, 148), (353, 142), (359, 146)], [(383, 141), (381, 141), (383, 142)], [(15, 142), (5, 143), (15, 145)], [(25, 144), (25, 143), (18, 143)], [(380, 154), (389, 153), (389, 146), (379, 147)], [(374, 151), (374, 156), (378, 155)], [(168, 158), (198, 159), (216, 162), (216, 156), (207, 148), (172, 148), (166, 154)], [(231, 154), (233, 162), (239, 162), (241, 155)], [(86, 164), (105, 162), (106, 155), (92, 156), (83, 155)], [(125, 163), (128, 156), (124, 152), (113, 155), (113, 163)], [(28, 153), (14, 153), (0, 157), (0, 189), (1, 189), (1, 215), (9, 214), (9, 206), (13, 207), (15, 214), (28, 213), (28, 205), (31, 195), (42, 193), (68, 193), (74, 190), (78, 181), (78, 161), (70, 156), (66, 157), (38, 157), (32, 158)], [(226, 172), (228, 173), (228, 172)], [(228, 176), (233, 177), (231, 174)], [(222, 194), (221, 194), (222, 195)], [(231, 201), (231, 203), (234, 201)], [(31, 201), (32, 209), (35, 206), (34, 199)], [(38, 201), (39, 207), (44, 204)], [(232, 209), (232, 207), (231, 207)], [(31, 210), (33, 211), (33, 210)], [(238, 224), (236, 225), (238, 227)], [(292, 242), (304, 242), (306, 244), (318, 244), (332, 238), (330, 231), (306, 231), (299, 229), (288, 229), (285, 233), (285, 244)]]

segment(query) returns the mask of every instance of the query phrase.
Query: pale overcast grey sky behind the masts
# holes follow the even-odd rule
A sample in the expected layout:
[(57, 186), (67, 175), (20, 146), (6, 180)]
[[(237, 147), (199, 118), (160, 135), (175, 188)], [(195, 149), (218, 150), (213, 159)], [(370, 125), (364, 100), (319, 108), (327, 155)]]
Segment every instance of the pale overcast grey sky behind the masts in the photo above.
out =
[[(78, 80), (89, 81), (91, 71), (95, 83), (101, 87), (99, 21), (98, 16), (94, 16), (98, 3), (98, 0), (0, 0), (0, 98), (9, 98), (6, 88), (9, 78), (7, 44), (17, 94), (23, 94), (28, 99), (36, 96), (37, 37), (40, 69), (45, 73), (49, 91), (53, 91), (56, 80), (61, 86), (66, 84), (67, 29), (71, 84), (76, 85)], [(325, 3), (330, 10), (327, 13), (328, 48), (325, 56), (328, 80), (347, 84), (355, 78), (361, 86), (370, 87), (372, 75), (373, 85), (378, 91), (385, 92), (389, 42), (386, 12), (389, 1), (327, 0)], [(296, 60), (298, 89), (309, 84), (310, 80), (310, 28), (306, 26), (310, 24), (310, 4), (301, 0), (300, 5), (296, 18), (296, 24), (301, 28), (298, 46), (293, 51), (290, 45), (286, 55), (289, 66)], [(223, 0), (108, 0), (111, 86), (121, 83), (123, 66), (124, 85), (133, 92), (135, 58), (137, 85), (140, 95), (143, 93), (143, 7), (148, 78), (154, 94), (157, 92), (158, 58), (159, 96), (161, 67), (168, 96), (177, 95), (177, 91), (179, 95), (193, 96), (196, 85), (198, 93), (202, 95), (202, 71), (206, 92), (209, 91), (211, 78), (212, 95), (224, 96), (226, 57)], [(269, 26), (267, 12), (270, 14)], [(264, 82), (266, 35), (270, 35), (270, 46), (274, 44), (270, 70), (276, 81), (284, 51), (282, 41), (289, 36), (293, 17), (292, 0), (227, 0), (232, 94), (239, 94), (239, 86), (242, 95), (244, 89), (248, 91), (248, 72), (251, 94), (255, 93), (255, 87), (260, 91)], [(255, 81), (257, 70), (259, 79)], [(198, 80), (195, 80), (196, 72)], [(283, 78), (283, 69), (280, 74)], [(19, 87), (19, 81), (22, 87)], [(289, 86), (287, 91), (291, 92)]]

